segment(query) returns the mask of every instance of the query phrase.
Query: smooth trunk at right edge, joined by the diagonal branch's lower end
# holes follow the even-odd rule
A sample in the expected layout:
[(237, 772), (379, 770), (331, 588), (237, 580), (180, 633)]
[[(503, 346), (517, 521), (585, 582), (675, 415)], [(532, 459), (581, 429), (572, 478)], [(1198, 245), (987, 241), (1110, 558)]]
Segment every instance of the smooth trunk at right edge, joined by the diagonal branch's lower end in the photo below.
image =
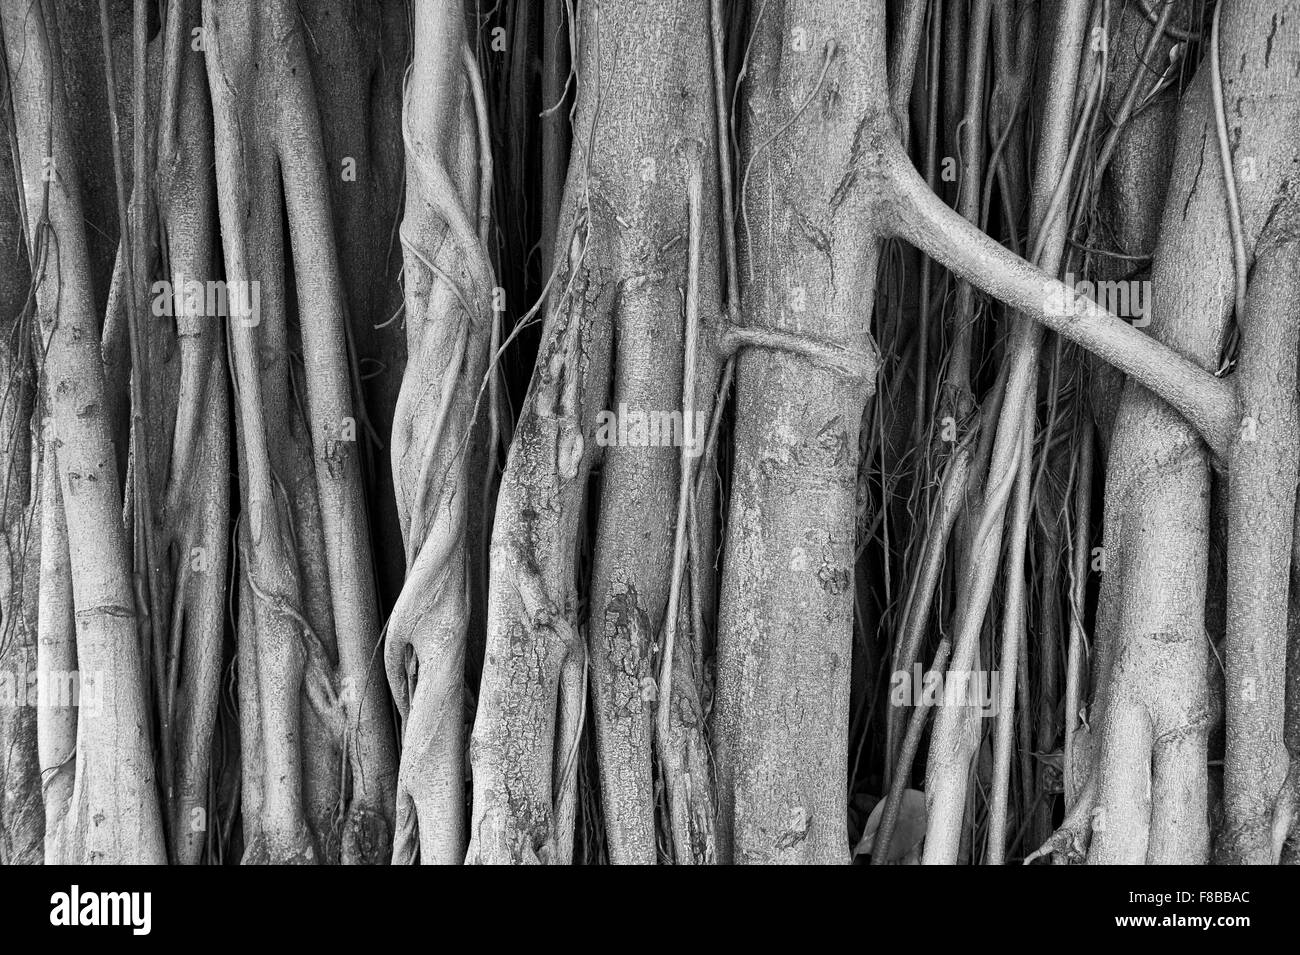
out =
[(1242, 430), (1227, 500), (1227, 754), (1217, 851), (1278, 861), (1291, 825), (1284, 748), (1287, 592), (1295, 512), (1300, 207), (1284, 196), (1254, 248), (1236, 376)]

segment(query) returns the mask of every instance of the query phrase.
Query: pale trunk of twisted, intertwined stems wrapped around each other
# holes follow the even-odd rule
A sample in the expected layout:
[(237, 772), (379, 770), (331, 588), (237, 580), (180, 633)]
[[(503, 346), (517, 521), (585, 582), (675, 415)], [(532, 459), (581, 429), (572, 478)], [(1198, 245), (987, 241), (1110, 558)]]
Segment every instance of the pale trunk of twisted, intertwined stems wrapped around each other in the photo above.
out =
[(389, 683), (402, 715), (394, 861), (465, 854), (465, 525), (485, 508), (471, 468), (498, 296), (488, 253), (491, 156), (482, 81), (455, 4), (416, 9), (403, 133), (410, 361), (393, 427), (407, 579), (389, 618)]

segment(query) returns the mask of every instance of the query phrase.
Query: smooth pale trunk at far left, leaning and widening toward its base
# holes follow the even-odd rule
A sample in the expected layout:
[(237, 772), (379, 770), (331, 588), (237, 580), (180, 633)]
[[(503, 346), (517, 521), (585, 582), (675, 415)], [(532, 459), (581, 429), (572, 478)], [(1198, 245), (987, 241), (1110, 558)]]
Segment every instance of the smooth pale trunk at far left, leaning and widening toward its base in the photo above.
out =
[[(83, 715), (77, 729), (65, 860), (164, 860), (148, 745), (121, 485), (104, 405), (99, 322), (65, 129), (57, 25), (48, 4), (0, 6), (13, 91), (38, 334), (49, 396), (77, 629)], [(88, 704), (94, 716), (88, 716)]]

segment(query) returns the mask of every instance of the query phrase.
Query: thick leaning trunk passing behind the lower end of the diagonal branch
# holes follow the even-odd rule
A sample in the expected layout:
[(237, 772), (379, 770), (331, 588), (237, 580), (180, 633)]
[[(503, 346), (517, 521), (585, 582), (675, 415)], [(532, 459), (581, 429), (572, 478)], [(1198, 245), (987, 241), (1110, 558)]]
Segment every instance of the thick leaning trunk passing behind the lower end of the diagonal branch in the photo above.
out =
[[(1295, 144), (1280, 133), (1295, 121), (1278, 123), (1277, 118), (1279, 110), (1291, 116), (1286, 110), (1295, 109), (1296, 99), (1273, 99), (1288, 83), (1294, 88), (1294, 78), (1282, 73), (1294, 66), (1295, 51), (1290, 44), (1268, 52), (1260, 48), (1257, 40), (1268, 32), (1270, 18), (1249, 4), (1230, 3), (1221, 38), (1222, 62), (1231, 65), (1223, 84), (1236, 129), (1230, 136), (1239, 138), (1235, 164), (1258, 152), (1254, 179), (1238, 175), (1243, 231), (1252, 251), (1265, 223), (1279, 210), (1278, 196), (1295, 155)], [(1209, 58), (1201, 64), (1179, 110), (1174, 173), (1152, 269), (1150, 327), (1153, 337), (1208, 369), (1219, 361), (1234, 285), (1210, 64)], [(1265, 88), (1271, 91), (1268, 100)], [(1240, 425), (1235, 430), (1240, 431)], [(1231, 466), (1230, 459), (1230, 474)], [(1101, 826), (1093, 824), (1089, 861), (1195, 863), (1208, 858), (1208, 507), (1209, 459), (1195, 433), (1144, 388), (1126, 385), (1108, 466), (1105, 526), (1108, 557), (1117, 556), (1124, 572), (1106, 582), (1119, 587), (1119, 612), (1117, 631), (1102, 635), (1113, 656), (1109, 686), (1102, 689), (1106, 703), (1097, 768)], [(1228, 599), (1231, 603), (1232, 596)], [(1284, 628), (1274, 631), (1271, 644), (1274, 652), (1284, 648)], [(1236, 673), (1240, 670), (1230, 665), (1230, 681)], [(1254, 691), (1265, 694), (1274, 687), (1280, 750), (1282, 673), (1273, 680)], [(1252, 709), (1257, 707), (1258, 696), (1251, 703)], [(1261, 711), (1265, 719), (1268, 712)], [(1264, 795), (1253, 786), (1239, 793), (1256, 799)], [(1274, 790), (1270, 798), (1275, 795)], [(1238, 825), (1230, 822), (1230, 841)]]

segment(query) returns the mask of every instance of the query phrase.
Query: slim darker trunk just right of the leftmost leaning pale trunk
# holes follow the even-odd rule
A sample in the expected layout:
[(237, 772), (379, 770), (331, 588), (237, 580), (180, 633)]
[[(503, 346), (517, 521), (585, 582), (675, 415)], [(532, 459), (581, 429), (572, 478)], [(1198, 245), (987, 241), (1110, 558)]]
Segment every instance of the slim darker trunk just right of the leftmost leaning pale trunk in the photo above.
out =
[[(168, 781), (170, 851), (198, 864), (211, 838), (208, 800), (226, 622), (230, 526), (230, 418), (225, 337), (218, 316), (187, 314), (187, 282), (213, 274), (216, 196), (212, 113), (203, 62), (191, 48), (198, 0), (173, 0), (164, 38), (157, 149), (159, 216), (176, 308), (174, 337), (159, 334), (160, 357), (178, 355), (174, 422), (159, 468), (164, 546), (172, 550), (174, 594), (168, 634), (164, 708), (172, 726)], [(198, 134), (198, 135), (195, 135)], [(165, 434), (165, 431), (164, 431)], [(161, 452), (160, 452), (161, 456)], [(178, 646), (179, 644), (179, 646)]]

